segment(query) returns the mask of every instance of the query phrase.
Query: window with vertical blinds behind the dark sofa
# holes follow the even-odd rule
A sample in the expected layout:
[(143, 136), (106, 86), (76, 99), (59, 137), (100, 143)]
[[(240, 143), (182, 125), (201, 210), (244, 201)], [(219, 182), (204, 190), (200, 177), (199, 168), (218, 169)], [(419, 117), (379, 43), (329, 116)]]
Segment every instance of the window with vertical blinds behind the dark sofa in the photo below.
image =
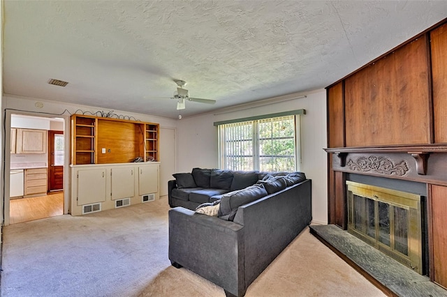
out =
[(298, 170), (299, 116), (277, 116), (218, 126), (221, 168), (268, 172)]

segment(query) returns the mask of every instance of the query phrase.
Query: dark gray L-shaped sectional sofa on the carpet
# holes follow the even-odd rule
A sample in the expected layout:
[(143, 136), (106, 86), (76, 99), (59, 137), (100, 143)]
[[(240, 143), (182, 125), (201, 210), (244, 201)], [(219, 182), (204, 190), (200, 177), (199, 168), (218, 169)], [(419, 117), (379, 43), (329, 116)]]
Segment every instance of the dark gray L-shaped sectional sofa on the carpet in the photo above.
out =
[[(188, 184), (191, 176), (195, 186)], [(206, 176), (208, 188), (198, 187), (207, 185)], [(231, 183), (224, 183), (224, 176)], [(302, 172), (193, 169), (175, 177), (169, 204), (183, 207), (169, 211), (169, 259), (173, 266), (219, 285), (227, 296), (244, 296), (249, 284), (312, 220), (312, 183)], [(216, 186), (225, 188), (212, 188)], [(213, 207), (213, 201), (217, 216), (193, 211), (199, 205)]]

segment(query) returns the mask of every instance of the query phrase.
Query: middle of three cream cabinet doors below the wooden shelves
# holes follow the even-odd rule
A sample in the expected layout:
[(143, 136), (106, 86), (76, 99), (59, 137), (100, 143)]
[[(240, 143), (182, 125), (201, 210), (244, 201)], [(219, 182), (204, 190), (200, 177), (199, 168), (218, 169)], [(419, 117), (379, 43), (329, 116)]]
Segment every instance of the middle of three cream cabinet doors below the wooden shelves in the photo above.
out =
[(135, 195), (135, 169), (112, 168), (112, 200)]

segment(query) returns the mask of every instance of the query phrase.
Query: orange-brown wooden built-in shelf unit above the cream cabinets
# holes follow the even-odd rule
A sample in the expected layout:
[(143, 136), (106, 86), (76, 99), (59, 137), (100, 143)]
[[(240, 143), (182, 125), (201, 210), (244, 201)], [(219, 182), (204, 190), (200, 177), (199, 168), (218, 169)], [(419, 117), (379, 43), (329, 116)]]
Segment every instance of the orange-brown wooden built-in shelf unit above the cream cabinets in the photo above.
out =
[(73, 114), (71, 164), (158, 162), (159, 124)]

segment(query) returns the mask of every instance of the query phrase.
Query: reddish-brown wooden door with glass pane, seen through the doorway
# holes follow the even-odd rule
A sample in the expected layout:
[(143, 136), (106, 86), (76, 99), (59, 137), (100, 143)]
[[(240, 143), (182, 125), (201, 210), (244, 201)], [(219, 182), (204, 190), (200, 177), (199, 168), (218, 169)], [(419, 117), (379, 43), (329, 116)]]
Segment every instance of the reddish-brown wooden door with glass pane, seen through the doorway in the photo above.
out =
[(48, 131), (48, 191), (64, 189), (64, 131)]

